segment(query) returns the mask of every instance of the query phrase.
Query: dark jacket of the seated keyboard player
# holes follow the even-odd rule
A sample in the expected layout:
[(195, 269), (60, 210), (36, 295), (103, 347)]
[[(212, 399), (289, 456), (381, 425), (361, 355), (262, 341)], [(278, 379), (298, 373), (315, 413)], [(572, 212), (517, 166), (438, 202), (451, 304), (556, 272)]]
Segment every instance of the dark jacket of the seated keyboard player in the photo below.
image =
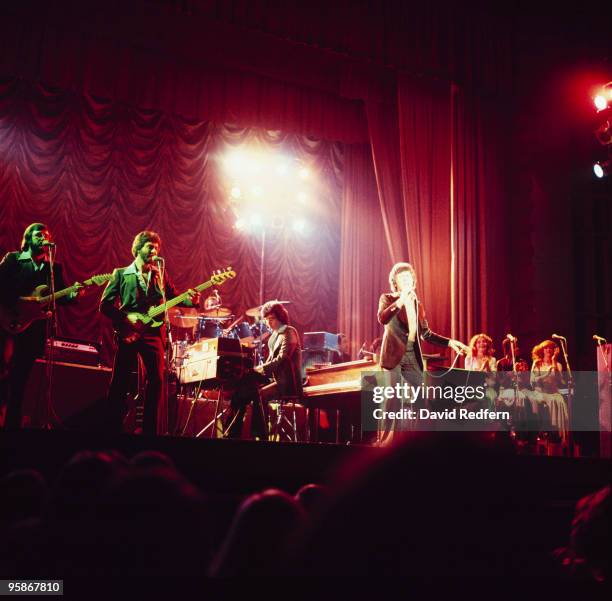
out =
[(263, 371), (266, 376), (274, 377), (280, 396), (302, 396), (302, 349), (294, 327), (287, 326), (279, 332)]

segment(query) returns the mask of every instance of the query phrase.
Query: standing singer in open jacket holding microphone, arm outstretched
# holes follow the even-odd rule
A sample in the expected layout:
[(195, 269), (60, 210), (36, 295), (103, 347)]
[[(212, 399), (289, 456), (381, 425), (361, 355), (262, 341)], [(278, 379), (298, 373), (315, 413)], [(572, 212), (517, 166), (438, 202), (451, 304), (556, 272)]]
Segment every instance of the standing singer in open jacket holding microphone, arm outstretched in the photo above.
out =
[[(429, 329), (425, 309), (416, 295), (416, 272), (410, 263), (396, 263), (389, 272), (390, 293), (383, 293), (378, 301), (378, 322), (385, 327), (380, 350), (380, 365), (394, 372), (408, 384), (423, 383), (423, 361), (419, 340), (449, 347), (457, 353), (468, 353), (470, 348), (458, 340), (440, 336)], [(401, 409), (398, 399), (385, 401), (384, 411)], [(395, 421), (379, 424), (378, 443), (388, 444), (393, 438)]]

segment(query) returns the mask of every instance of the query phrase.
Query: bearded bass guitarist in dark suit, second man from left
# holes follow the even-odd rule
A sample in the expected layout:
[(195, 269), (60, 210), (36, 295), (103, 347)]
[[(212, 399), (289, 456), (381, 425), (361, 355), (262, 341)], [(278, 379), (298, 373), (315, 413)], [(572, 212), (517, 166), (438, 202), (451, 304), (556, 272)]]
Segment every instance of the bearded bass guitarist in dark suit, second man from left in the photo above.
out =
[[(127, 411), (129, 375), (140, 356), (146, 372), (143, 432), (157, 434), (157, 412), (163, 395), (166, 328), (163, 325), (145, 328), (135, 340), (129, 340), (123, 333), (126, 326), (129, 330), (131, 325), (138, 325), (138, 314), (146, 314), (151, 307), (163, 303), (162, 290), (167, 300), (178, 296), (165, 274), (161, 282), (158, 262), (160, 247), (159, 234), (151, 231), (137, 234), (132, 244), (134, 261), (127, 267), (115, 269), (100, 302), (100, 311), (113, 320), (117, 333), (117, 353), (108, 392), (107, 424), (115, 432), (122, 430)], [(197, 306), (199, 294), (190, 290), (189, 295), (191, 300), (184, 304)]]

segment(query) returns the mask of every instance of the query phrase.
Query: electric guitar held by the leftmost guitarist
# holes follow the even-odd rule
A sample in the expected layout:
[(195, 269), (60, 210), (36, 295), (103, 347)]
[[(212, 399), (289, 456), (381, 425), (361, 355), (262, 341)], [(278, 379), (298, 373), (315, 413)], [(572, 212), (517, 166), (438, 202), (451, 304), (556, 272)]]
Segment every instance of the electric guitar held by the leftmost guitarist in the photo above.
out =
[[(91, 276), (82, 282), (82, 286), (102, 286), (112, 278), (110, 273)], [(20, 296), (16, 305), (11, 309), (0, 305), (0, 327), (9, 334), (20, 334), (27, 330), (30, 324), (37, 319), (45, 319), (49, 305), (53, 299), (58, 300), (76, 292), (79, 288), (73, 284), (56, 292), (55, 294), (45, 294), (49, 287), (45, 284), (36, 286), (29, 296)]]

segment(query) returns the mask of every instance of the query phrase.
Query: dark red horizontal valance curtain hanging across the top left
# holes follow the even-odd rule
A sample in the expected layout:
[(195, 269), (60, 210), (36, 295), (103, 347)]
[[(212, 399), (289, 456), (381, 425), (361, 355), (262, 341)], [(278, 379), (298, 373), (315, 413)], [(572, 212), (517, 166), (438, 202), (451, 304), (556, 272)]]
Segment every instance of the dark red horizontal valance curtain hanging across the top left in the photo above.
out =
[(187, 119), (368, 140), (362, 103), (340, 97), (343, 67), (334, 61), (317, 63), (307, 50), (297, 60), (266, 36), (251, 40), (211, 22), (198, 28), (193, 20), (139, 13), (129, 3), (97, 10), (92, 19), (86, 5), (65, 14), (52, 4), (31, 13), (0, 6), (0, 76)]

